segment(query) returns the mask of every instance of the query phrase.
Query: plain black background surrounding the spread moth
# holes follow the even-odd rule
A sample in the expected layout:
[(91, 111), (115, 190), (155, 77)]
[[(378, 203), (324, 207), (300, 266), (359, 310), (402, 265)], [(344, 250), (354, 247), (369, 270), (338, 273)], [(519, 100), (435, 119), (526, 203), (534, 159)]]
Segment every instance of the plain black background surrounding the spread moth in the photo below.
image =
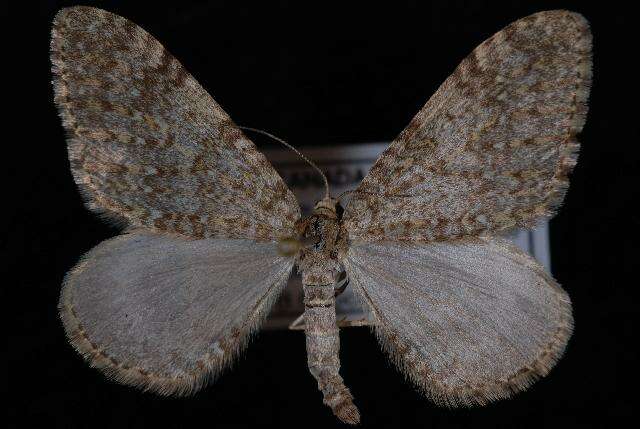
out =
[[(545, 9), (584, 14), (594, 34), (590, 110), (571, 188), (551, 222), (553, 274), (571, 295), (576, 320), (565, 357), (527, 392), (476, 409), (448, 410), (423, 399), (366, 329), (342, 331), (341, 372), (363, 426), (584, 427), (632, 414), (630, 294), (638, 281), (631, 264), (638, 252), (631, 233), (640, 223), (631, 214), (639, 166), (637, 102), (629, 91), (637, 86), (634, 14), (615, 2), (183, 3), (97, 5), (155, 35), (237, 123), (303, 150), (390, 140), (457, 63), (503, 26)], [(68, 345), (56, 310), (62, 278), (84, 252), (117, 234), (83, 207), (52, 104), (50, 23), (71, 4), (2, 11), (5, 30), (12, 29), (6, 42), (19, 48), (5, 60), (15, 60), (12, 68), (25, 81), (22, 107), (13, 113), (27, 119), (11, 140), (17, 155), (4, 163), (16, 191), (2, 237), (2, 260), (13, 275), (4, 289), (17, 295), (4, 305), (10, 425), (339, 425), (308, 373), (299, 332), (261, 333), (232, 371), (182, 399), (109, 382)]]

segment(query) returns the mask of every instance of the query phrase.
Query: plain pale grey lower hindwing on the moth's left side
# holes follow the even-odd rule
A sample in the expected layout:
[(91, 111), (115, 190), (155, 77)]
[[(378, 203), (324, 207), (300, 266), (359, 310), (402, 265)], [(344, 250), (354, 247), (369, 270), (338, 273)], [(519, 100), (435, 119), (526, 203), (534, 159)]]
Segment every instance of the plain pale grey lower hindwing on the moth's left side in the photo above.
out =
[(109, 377), (188, 394), (232, 361), (292, 266), (275, 243), (126, 234), (67, 275), (60, 314), (74, 347)]

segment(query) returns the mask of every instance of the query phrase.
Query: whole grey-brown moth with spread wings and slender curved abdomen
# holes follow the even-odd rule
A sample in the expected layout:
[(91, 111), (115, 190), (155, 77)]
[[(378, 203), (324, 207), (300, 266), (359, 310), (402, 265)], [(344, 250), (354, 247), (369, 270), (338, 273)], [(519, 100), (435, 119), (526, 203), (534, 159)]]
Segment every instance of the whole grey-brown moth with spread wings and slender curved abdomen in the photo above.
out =
[(336, 288), (349, 281), (398, 368), (437, 404), (506, 398), (545, 376), (573, 318), (567, 293), (501, 235), (554, 213), (587, 112), (579, 14), (516, 21), (478, 46), (380, 156), (344, 208), (302, 217), (266, 158), (152, 36), (62, 9), (55, 102), (88, 207), (122, 235), (67, 274), (66, 334), (118, 382), (186, 395), (245, 347), (294, 266), (308, 365), (343, 422)]

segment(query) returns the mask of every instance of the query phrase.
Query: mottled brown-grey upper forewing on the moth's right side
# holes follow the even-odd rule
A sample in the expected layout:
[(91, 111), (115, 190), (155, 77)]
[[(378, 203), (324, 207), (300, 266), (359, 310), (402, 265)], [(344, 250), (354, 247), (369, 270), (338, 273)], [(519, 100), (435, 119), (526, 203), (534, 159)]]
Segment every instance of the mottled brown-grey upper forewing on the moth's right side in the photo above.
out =
[(359, 240), (530, 227), (562, 202), (591, 78), (587, 21), (531, 15), (469, 55), (381, 155), (345, 211)]

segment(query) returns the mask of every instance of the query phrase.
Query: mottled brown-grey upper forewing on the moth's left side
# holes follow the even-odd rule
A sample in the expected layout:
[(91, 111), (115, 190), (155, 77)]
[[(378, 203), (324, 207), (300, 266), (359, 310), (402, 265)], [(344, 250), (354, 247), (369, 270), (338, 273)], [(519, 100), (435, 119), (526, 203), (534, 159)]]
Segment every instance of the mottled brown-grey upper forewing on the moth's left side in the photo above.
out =
[(100, 9), (62, 9), (51, 59), (71, 169), (90, 208), (196, 238), (291, 234), (293, 194), (143, 29)]

